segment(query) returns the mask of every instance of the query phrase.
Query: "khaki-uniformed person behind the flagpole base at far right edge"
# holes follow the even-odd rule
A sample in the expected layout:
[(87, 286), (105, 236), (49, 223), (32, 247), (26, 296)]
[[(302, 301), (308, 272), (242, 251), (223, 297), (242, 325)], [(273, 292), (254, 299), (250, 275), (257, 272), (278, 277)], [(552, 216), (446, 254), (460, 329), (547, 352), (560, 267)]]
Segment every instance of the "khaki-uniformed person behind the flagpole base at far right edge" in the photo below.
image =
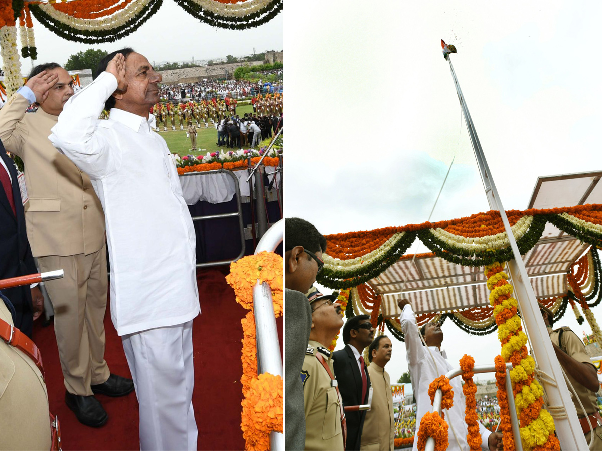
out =
[[(556, 351), (556, 357), (566, 376), (573, 385), (573, 388), (583, 404), (583, 408), (577, 400), (573, 400), (577, 410), (577, 417), (581, 423), (583, 434), (588, 441), (591, 439), (589, 423), (586, 417), (589, 417), (592, 428), (594, 429), (594, 445), (591, 448), (595, 451), (602, 451), (602, 417), (598, 412), (596, 393), (600, 390), (598, 382), (598, 372), (592, 364), (589, 355), (585, 351), (585, 345), (577, 335), (568, 327), (560, 327), (552, 330), (554, 324), (554, 314), (552, 311), (539, 303), (539, 310), (544, 317), (545, 325), (548, 327), (550, 339)], [(569, 388), (570, 390), (570, 388)]]

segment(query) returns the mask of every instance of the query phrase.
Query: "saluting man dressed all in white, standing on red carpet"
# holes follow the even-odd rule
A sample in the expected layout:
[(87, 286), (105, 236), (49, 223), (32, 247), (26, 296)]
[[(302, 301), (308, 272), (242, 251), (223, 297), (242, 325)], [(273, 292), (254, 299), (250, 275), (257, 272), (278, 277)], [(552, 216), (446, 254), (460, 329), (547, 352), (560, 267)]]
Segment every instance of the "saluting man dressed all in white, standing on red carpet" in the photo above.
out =
[[(111, 318), (140, 404), (140, 447), (196, 449), (193, 223), (166, 143), (152, 131), (161, 76), (143, 55), (119, 52), (69, 99), (49, 139), (90, 175), (105, 212)], [(98, 120), (105, 101), (110, 119)]]

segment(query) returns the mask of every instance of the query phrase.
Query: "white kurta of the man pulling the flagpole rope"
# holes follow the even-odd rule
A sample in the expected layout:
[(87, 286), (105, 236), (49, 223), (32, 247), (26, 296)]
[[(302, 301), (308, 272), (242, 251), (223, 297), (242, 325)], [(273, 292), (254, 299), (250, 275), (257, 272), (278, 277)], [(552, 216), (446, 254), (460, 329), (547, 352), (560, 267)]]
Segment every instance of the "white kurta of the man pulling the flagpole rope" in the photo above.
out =
[[(416, 398), (416, 436), (418, 437), (418, 429), (420, 429), (420, 420), (425, 413), (432, 411), (429, 397), (429, 385), (430, 382), (434, 381), (439, 376), (444, 375), (455, 367), (459, 367), (460, 363), (452, 366), (447, 360), (447, 354), (445, 351), (439, 351), (436, 346), (429, 346), (427, 349), (423, 345), (420, 339), (420, 331), (416, 326), (416, 316), (410, 305), (403, 307), (402, 316), (400, 318), (402, 324), (402, 332), (405, 334), (406, 343), (406, 357), (408, 358), (408, 368), (410, 372), (410, 379), (412, 381), (412, 388), (414, 389), (414, 397)], [(430, 352), (429, 352), (430, 349)], [(432, 354), (435, 359), (436, 366), (433, 364)], [(457, 376), (451, 381), (453, 388), (453, 407), (450, 410), (445, 410), (445, 421), (450, 428), (448, 430), (449, 437), (449, 451), (459, 451), (458, 443), (462, 451), (468, 450), (468, 444), (466, 442), (466, 435), (468, 429), (464, 420), (464, 410), (466, 408), (466, 399), (462, 393), (462, 378)], [(455, 431), (456, 438), (454, 438)], [(489, 449), (487, 446), (487, 440), (491, 432), (487, 431), (480, 423), (479, 429), (481, 431), (481, 438), (483, 439), (482, 448)], [(414, 447), (416, 451), (418, 440), (414, 440)]]

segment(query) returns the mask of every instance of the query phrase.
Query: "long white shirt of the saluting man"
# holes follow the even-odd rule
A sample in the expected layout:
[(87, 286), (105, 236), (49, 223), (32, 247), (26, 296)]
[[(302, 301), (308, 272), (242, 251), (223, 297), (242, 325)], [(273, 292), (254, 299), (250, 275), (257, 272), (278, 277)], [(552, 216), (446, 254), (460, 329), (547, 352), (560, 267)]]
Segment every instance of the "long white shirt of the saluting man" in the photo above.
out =
[[(73, 95), (49, 140), (92, 179), (107, 225), (111, 318), (119, 335), (182, 324), (200, 312), (196, 237), (178, 173), (150, 119), (111, 109), (104, 72)], [(85, 207), (84, 207), (85, 208)]]

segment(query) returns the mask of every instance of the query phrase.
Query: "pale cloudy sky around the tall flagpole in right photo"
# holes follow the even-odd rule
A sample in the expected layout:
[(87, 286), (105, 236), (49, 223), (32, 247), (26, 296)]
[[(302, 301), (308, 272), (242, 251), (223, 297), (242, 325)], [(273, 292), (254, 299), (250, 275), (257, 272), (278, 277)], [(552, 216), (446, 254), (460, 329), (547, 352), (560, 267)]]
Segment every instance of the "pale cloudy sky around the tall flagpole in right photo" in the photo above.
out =
[[(458, 49), (505, 209), (526, 209), (538, 176), (600, 170), (601, 13), (599, 2), (287, 2), (286, 216), (324, 234), (424, 222), (453, 156), (432, 221), (489, 209), (441, 38)], [(591, 333), (571, 311), (560, 325)], [(443, 330), (452, 364), (500, 352), (497, 334)], [(394, 340), (391, 381), (406, 369)]]

